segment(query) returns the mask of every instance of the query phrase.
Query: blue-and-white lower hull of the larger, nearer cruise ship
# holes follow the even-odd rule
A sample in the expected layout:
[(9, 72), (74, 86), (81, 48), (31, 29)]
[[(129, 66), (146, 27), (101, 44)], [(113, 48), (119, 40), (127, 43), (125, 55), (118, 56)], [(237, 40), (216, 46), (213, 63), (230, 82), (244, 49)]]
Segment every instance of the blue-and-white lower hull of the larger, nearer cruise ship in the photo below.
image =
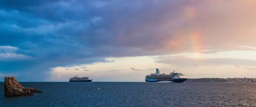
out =
[(149, 83), (182, 83), (186, 81), (187, 78), (180, 78), (180, 79), (168, 79), (168, 80), (159, 80), (159, 79), (145, 79), (145, 82)]

